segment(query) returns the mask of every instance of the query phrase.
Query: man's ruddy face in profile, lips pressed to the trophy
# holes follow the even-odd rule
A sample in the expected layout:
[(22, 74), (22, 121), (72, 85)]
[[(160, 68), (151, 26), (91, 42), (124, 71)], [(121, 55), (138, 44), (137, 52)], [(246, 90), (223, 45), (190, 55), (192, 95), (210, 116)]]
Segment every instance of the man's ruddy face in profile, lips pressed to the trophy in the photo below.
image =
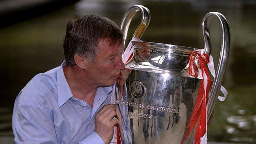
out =
[(123, 44), (110, 45), (110, 41), (103, 40), (98, 44), (98, 54), (94, 62), (89, 64), (88, 73), (98, 87), (113, 85), (119, 77), (122, 62)]

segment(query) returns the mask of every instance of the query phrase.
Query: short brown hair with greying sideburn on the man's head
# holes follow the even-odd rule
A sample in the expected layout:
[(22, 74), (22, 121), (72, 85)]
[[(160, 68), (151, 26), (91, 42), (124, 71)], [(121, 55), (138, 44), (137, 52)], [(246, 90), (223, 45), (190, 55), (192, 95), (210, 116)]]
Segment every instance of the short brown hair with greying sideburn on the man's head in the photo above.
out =
[(98, 43), (104, 39), (109, 39), (111, 45), (123, 42), (123, 32), (110, 19), (94, 14), (70, 21), (63, 45), (66, 64), (75, 65), (75, 54), (84, 55), (89, 62), (93, 62)]

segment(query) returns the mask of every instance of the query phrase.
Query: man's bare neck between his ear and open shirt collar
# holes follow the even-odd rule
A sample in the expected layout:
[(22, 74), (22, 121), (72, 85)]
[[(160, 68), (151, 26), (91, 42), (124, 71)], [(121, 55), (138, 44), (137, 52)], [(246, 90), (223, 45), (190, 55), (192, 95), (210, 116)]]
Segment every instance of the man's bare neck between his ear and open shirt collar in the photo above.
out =
[(78, 66), (64, 66), (64, 75), (75, 98), (86, 101), (93, 107), (97, 86), (90, 82), (88, 75)]

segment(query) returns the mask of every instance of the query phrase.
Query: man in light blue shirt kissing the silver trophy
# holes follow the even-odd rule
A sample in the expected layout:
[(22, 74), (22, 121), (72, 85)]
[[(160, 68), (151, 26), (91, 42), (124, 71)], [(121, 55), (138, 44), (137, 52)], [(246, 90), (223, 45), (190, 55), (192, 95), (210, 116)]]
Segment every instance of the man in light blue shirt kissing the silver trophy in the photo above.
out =
[[(123, 95), (130, 70), (122, 62), (123, 34), (103, 16), (70, 21), (65, 61), (36, 75), (18, 94), (12, 118), (18, 144), (108, 144), (122, 127), (111, 95)], [(113, 90), (117, 80), (117, 91)], [(114, 118), (114, 117), (117, 117)], [(123, 125), (123, 127), (125, 127)], [(121, 136), (126, 137), (123, 128)]]

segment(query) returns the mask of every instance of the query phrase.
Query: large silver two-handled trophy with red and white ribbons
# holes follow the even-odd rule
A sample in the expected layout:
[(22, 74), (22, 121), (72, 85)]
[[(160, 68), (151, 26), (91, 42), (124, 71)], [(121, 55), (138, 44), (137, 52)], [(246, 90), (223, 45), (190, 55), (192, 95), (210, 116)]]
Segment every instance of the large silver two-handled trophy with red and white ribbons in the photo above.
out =
[[(222, 87), (229, 54), (230, 33), (226, 18), (217, 12), (204, 16), (205, 47), (197, 49), (139, 40), (150, 21), (149, 9), (142, 5), (130, 7), (124, 15), (121, 30), (125, 39), (137, 11), (142, 13), (142, 19), (124, 52), (126, 57), (123, 57), (126, 68), (133, 69), (126, 81), (128, 96), (116, 101), (123, 130), (130, 131), (123, 142), (207, 143), (207, 122)], [(213, 18), (217, 18), (222, 26), (216, 76), (213, 64), (209, 66), (209, 62), (213, 62), (209, 32)], [(208, 69), (214, 80), (210, 80)]]

